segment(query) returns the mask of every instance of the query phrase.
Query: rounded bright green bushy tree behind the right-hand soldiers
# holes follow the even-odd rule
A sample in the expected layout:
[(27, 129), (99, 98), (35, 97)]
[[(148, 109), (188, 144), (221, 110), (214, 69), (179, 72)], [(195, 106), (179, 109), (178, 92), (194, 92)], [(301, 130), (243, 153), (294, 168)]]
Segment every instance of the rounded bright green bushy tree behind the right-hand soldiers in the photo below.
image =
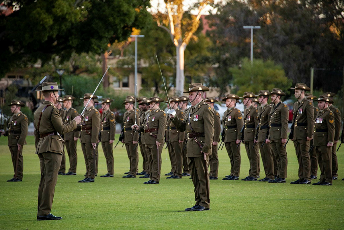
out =
[(230, 68), (233, 74), (234, 87), (237, 94), (243, 95), (246, 91), (258, 93), (259, 90), (280, 88), (287, 92), (292, 85), (291, 79), (286, 77), (281, 65), (271, 60), (254, 59), (253, 64), (248, 57), (241, 60), (240, 67)]

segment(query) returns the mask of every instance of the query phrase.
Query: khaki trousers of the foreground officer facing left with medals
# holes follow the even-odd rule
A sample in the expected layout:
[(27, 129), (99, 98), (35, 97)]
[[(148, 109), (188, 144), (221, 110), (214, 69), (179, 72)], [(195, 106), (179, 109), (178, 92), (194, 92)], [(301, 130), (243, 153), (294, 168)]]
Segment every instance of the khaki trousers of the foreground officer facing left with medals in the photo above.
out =
[(195, 205), (201, 205), (209, 208), (210, 203), (210, 185), (209, 185), (209, 155), (204, 160), (204, 157), (188, 157), (187, 163), (189, 165), (192, 183), (195, 191)]

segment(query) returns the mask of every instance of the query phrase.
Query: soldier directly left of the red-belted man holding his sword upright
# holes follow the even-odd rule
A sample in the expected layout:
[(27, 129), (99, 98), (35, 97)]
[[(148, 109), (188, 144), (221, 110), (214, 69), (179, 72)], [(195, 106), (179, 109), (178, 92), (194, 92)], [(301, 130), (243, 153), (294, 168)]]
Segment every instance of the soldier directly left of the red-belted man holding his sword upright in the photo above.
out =
[[(139, 141), (139, 134), (138, 132), (133, 132), (131, 129), (131, 126), (134, 124), (140, 124), (139, 123), (139, 115), (136, 114), (135, 121), (135, 109), (133, 108), (135, 102), (135, 98), (132, 96), (127, 96), (126, 100), (122, 103), (127, 110), (123, 115), (123, 129), (124, 129), (124, 140), (122, 140), (122, 143), (125, 143), (126, 150), (129, 158), (130, 163), (130, 170), (128, 175), (123, 176), (123, 178), (135, 178), (137, 173), (137, 165), (139, 161), (139, 155), (137, 148), (135, 148), (136, 144)], [(135, 149), (134, 149), (135, 148)]]

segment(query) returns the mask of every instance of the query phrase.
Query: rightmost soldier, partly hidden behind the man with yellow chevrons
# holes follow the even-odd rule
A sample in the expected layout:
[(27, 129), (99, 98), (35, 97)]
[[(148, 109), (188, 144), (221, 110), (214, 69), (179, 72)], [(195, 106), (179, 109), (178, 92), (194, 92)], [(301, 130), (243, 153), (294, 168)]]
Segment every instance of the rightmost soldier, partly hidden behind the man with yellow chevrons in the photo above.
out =
[(339, 135), (341, 132), (341, 112), (339, 111), (338, 108), (333, 106), (333, 97), (336, 95), (335, 93), (327, 92), (323, 94), (324, 96), (327, 96), (330, 98), (329, 102), (329, 109), (332, 111), (334, 114), (334, 127), (335, 127), (335, 132), (334, 132), (334, 142), (333, 142), (333, 147), (332, 147), (332, 179), (336, 180), (338, 179), (338, 159), (337, 159), (337, 154), (336, 154), (336, 149), (337, 149), (337, 143), (339, 140)]

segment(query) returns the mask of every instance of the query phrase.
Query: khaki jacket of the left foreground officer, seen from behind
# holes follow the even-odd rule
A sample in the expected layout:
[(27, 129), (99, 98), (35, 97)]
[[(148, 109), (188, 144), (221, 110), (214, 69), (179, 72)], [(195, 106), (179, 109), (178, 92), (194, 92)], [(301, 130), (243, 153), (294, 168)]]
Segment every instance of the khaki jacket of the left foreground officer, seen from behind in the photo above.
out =
[[(40, 135), (37, 132), (37, 125), (42, 110), (45, 106), (49, 104), (51, 106), (47, 107), (42, 114), (38, 131), (40, 132), (40, 134), (48, 134), (53, 132), (57, 132), (57, 134), (40, 138)], [(37, 110), (34, 113), (34, 134), (35, 143), (37, 143), (36, 154), (52, 152), (62, 155), (62, 143), (64, 142), (64, 140), (60, 135), (71, 132), (73, 129), (76, 129), (76, 126), (77, 125), (75, 121), (69, 122), (68, 124), (63, 124), (60, 111), (58, 110), (58, 108), (56, 108), (52, 102), (44, 101), (43, 104), (39, 108), (37, 108)]]

